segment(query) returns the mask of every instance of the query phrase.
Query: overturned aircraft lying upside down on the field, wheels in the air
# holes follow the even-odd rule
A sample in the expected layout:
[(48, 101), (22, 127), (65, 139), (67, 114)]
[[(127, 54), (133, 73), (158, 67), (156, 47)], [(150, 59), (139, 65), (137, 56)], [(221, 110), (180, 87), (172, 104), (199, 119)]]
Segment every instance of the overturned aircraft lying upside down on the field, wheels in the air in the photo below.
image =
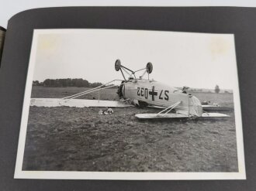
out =
[[(179, 90), (176, 87), (170, 87), (155, 80), (149, 79), (152, 73), (152, 63), (141, 70), (130, 70), (124, 67), (120, 60), (116, 60), (116, 71), (120, 71), (123, 80), (112, 80), (99, 87), (85, 90), (78, 94), (57, 98), (32, 98), (30, 106), (38, 107), (155, 107), (162, 109), (156, 114), (136, 114), (140, 119), (154, 118), (227, 118), (229, 115), (220, 113), (208, 113), (207, 111), (229, 110), (227, 107), (218, 105), (203, 105), (199, 99), (192, 94), (187, 94), (188, 87)], [(136, 74), (143, 71), (140, 77)], [(125, 75), (126, 73), (126, 75)], [(147, 73), (147, 79), (143, 77)], [(128, 75), (128, 76), (127, 76)], [(121, 81), (119, 85), (112, 84), (115, 81)], [(91, 94), (95, 91), (106, 88), (118, 87), (117, 94), (119, 101), (85, 100), (77, 99), (85, 94)]]

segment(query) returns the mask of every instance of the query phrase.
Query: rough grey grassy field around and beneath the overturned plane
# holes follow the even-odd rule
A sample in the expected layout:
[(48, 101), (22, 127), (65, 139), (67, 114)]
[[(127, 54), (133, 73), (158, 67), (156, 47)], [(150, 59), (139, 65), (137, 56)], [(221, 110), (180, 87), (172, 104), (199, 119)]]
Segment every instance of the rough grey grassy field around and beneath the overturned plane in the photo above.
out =
[[(78, 87), (33, 87), (32, 97), (65, 97)], [(233, 94), (195, 93), (234, 107)], [(86, 97), (98, 98), (98, 93)], [(101, 99), (116, 98), (116, 89)], [(106, 172), (237, 172), (234, 111), (215, 120), (139, 121), (153, 108), (30, 107), (23, 170)]]

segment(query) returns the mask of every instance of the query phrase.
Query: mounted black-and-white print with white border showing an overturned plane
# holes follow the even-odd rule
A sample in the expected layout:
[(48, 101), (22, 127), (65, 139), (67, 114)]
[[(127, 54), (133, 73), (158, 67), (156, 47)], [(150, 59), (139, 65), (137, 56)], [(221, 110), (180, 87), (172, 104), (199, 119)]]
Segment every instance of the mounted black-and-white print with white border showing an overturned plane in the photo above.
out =
[(234, 34), (35, 29), (16, 179), (246, 179)]

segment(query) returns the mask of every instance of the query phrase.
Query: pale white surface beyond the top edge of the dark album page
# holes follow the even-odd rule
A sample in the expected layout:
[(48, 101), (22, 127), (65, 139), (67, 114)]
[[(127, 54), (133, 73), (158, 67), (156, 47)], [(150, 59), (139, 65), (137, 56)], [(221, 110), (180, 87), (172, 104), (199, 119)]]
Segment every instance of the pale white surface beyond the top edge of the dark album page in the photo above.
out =
[(244, 6), (255, 7), (254, 0), (0, 0), (0, 26), (27, 9), (60, 6)]

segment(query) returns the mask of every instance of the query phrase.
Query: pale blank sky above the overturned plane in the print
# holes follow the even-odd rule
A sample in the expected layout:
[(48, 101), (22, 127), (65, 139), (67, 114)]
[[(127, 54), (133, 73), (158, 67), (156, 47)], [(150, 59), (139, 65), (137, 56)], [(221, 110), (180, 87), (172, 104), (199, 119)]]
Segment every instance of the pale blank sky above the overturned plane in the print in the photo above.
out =
[[(150, 79), (171, 87), (237, 87), (234, 35), (120, 29), (40, 29), (33, 39), (33, 80), (123, 79), (116, 59), (131, 70), (153, 64)], [(143, 73), (143, 72), (141, 72)], [(139, 74), (141, 74), (139, 73)], [(138, 75), (140, 76), (140, 75)], [(145, 76), (147, 77), (147, 76)]]

